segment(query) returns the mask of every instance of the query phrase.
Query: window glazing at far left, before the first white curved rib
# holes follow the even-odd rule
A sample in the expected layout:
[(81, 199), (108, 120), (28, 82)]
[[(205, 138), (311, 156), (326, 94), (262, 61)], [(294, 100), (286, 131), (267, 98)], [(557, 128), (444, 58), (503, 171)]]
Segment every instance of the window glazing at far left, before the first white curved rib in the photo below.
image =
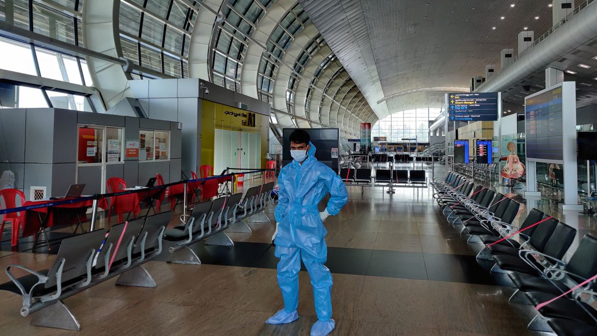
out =
[[(0, 0), (0, 21), (20, 29), (84, 47), (79, 0)], [(93, 86), (87, 62), (78, 56), (41, 48), (30, 42), (0, 37), (0, 69)], [(1, 107), (61, 107), (93, 111), (83, 94), (59, 93), (22, 83), (14, 87), (15, 98)]]

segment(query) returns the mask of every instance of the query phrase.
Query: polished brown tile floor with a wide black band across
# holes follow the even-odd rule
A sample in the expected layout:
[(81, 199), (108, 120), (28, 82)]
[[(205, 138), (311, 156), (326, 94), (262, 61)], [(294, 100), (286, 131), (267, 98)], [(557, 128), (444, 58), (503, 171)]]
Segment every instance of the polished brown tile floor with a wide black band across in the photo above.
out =
[[(349, 193), (347, 206), (325, 223), (327, 266), (334, 278), (333, 335), (541, 335), (526, 328), (533, 307), (507, 303), (513, 289), (488, 273), (491, 265), (476, 261), (479, 247), (467, 245), (444, 220), (431, 190), (399, 188), (390, 196), (381, 188), (361, 193), (350, 187)], [(179, 214), (173, 213), (172, 225)], [(273, 223), (273, 214), (267, 215)], [(594, 232), (595, 219), (577, 218), (581, 231)], [(112, 222), (102, 219), (99, 225)], [(64, 303), (82, 326), (78, 334), (308, 335), (316, 317), (304, 271), (300, 319), (263, 323), (282, 307), (270, 247), (274, 225), (249, 225), (251, 234), (229, 233), (234, 247), (193, 245), (202, 265), (168, 264), (165, 254), (149, 262), (155, 289), (115, 286), (112, 279), (67, 298)], [(68, 230), (54, 234), (58, 239)], [(22, 264), (41, 270), (53, 259), (48, 253), (2, 251), (0, 268)], [(5, 281), (2, 271), (0, 282)], [(19, 314), (17, 295), (0, 292), (0, 300), (1, 335), (76, 334), (30, 326), (30, 317)]]

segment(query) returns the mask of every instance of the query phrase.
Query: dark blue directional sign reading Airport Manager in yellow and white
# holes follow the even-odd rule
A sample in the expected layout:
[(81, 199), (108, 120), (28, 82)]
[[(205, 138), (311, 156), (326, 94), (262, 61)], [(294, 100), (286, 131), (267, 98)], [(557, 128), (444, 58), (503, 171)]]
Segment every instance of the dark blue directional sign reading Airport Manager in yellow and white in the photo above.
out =
[(450, 121), (497, 120), (497, 93), (450, 93), (448, 111)]

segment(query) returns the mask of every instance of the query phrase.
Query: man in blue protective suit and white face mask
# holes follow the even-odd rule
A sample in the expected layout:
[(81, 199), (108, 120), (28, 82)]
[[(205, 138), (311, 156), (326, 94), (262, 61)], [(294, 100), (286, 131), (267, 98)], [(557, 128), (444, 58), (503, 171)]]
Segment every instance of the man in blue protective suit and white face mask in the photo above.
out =
[[(290, 323), (298, 319), (298, 271), (300, 259), (309, 271), (318, 321), (311, 328), (311, 336), (329, 334), (335, 326), (331, 319), (332, 276), (325, 267), (327, 261), (327, 230), (323, 222), (329, 215), (337, 215), (348, 200), (346, 186), (330, 167), (315, 158), (315, 146), (304, 130), (290, 135), (291, 155), (294, 160), (280, 171), (278, 207), (276, 208), (276, 244), (278, 284), (284, 298), (284, 309), (266, 323)], [(318, 204), (328, 191), (324, 212)]]

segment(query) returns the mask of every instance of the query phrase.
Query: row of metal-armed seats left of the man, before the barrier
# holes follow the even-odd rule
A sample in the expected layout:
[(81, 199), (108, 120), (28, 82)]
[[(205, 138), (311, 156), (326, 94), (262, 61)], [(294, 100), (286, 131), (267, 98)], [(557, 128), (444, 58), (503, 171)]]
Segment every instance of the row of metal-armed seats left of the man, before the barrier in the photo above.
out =
[[(244, 197), (239, 193), (195, 204), (183, 224), (168, 230), (171, 211), (69, 237), (47, 270), (9, 265), (11, 281), (0, 290), (21, 295), (21, 316), (35, 313), (32, 325), (79, 331), (81, 325), (62, 300), (115, 276), (116, 285), (155, 288), (143, 264), (162, 251), (170, 253), (169, 262), (200, 264), (189, 245), (206, 239), (206, 244), (233, 246), (224, 230), (250, 233), (245, 219), (269, 222), (263, 212), (273, 187), (270, 182), (249, 188)], [(29, 274), (13, 276), (15, 269)]]

